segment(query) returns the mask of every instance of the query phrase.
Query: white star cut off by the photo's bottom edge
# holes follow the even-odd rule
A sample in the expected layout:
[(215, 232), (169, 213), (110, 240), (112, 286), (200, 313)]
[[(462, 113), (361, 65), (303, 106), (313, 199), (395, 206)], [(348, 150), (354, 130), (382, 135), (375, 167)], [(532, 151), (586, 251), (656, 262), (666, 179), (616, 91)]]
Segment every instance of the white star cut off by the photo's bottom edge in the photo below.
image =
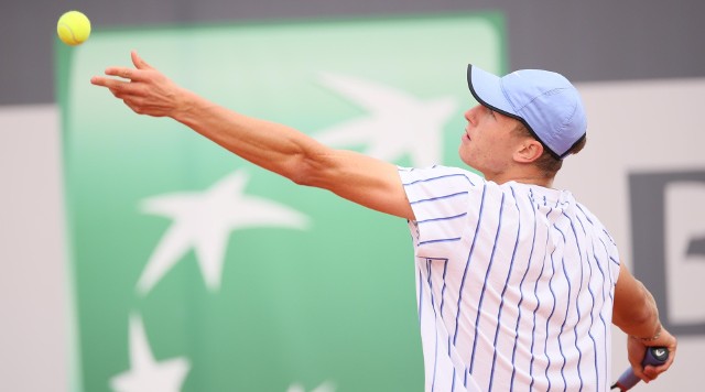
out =
[(156, 362), (140, 316), (130, 315), (130, 370), (113, 377), (117, 392), (177, 392), (191, 369), (185, 357)]

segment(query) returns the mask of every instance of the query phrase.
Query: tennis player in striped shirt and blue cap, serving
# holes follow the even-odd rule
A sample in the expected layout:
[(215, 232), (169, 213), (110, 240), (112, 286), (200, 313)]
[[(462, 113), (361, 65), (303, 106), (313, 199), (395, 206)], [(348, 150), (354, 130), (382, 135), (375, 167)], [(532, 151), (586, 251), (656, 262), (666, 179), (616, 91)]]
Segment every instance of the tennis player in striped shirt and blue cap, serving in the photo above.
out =
[[(676, 340), (607, 229), (553, 188), (587, 129), (578, 91), (560, 74), (499, 77), (468, 66), (479, 105), (465, 112), (459, 155), (480, 176), (334, 150), (181, 88), (135, 52), (132, 63), (91, 83), (137, 113), (173, 118), (296, 184), (408, 220), (426, 391), (607, 391), (611, 324), (629, 336), (629, 361), (643, 381), (673, 362)], [(666, 347), (669, 360), (642, 368), (649, 346)]]

